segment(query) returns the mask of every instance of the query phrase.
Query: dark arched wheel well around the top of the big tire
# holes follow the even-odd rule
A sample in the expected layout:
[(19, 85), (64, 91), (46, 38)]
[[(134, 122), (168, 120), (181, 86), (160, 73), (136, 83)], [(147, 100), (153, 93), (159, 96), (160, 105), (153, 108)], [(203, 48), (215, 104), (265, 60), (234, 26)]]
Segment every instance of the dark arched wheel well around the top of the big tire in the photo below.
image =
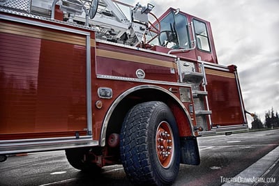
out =
[[(123, 120), (132, 107), (141, 102), (150, 101), (165, 102), (165, 104), (167, 104), (172, 110), (174, 118), (176, 118), (176, 123), (179, 128), (179, 136), (192, 136), (193, 131), (190, 115), (187, 114), (188, 111), (186, 111), (185, 107), (183, 108), (183, 106), (179, 104), (179, 101), (175, 99), (175, 95), (171, 95), (172, 93), (163, 90), (165, 89), (157, 86), (154, 86), (153, 88), (140, 88), (139, 90), (128, 93), (122, 98), (112, 111), (107, 127), (105, 127), (105, 139), (107, 139), (112, 133), (120, 134)], [(101, 145), (105, 146), (105, 144)]]

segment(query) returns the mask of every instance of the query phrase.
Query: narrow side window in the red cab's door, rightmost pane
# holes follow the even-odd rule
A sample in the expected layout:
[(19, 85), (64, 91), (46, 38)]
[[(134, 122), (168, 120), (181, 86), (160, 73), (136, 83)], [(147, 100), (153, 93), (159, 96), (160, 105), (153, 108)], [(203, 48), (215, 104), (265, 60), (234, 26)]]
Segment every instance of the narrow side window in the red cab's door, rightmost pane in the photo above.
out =
[(206, 24), (198, 20), (193, 20), (193, 23), (195, 29), (195, 37), (197, 40), (197, 48), (206, 52), (211, 52)]

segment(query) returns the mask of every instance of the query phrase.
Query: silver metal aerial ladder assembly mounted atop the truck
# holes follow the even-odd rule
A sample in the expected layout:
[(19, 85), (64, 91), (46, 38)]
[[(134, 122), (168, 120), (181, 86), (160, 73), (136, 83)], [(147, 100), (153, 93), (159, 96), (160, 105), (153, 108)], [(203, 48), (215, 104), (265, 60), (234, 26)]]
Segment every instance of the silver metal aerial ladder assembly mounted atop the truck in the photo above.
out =
[(133, 7), (114, 0), (55, 0), (52, 3), (38, 0), (32, 3), (31, 12), (54, 20), (56, 5), (63, 11), (61, 20), (96, 29), (96, 38), (100, 40), (137, 46), (149, 31), (160, 33), (149, 22), (149, 14), (155, 17), (151, 13), (154, 6), (150, 3), (147, 6), (137, 3)]

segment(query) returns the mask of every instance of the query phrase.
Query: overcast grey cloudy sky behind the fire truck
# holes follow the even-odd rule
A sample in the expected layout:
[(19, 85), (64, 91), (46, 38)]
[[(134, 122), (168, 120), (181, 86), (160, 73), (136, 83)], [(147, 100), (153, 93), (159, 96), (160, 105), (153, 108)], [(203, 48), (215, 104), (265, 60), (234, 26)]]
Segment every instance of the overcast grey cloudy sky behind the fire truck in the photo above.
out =
[(262, 122), (279, 111), (279, 0), (123, 0), (138, 1), (157, 17), (172, 7), (211, 22), (219, 63), (238, 67), (246, 110)]

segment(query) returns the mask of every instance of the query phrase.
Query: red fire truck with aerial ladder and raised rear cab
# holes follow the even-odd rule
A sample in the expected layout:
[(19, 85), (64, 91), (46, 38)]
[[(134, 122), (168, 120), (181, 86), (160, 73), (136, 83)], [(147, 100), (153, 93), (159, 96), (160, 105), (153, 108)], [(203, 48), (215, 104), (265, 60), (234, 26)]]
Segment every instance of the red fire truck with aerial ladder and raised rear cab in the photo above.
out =
[(247, 128), (235, 65), (211, 25), (114, 0), (0, 1), (0, 159), (66, 150), (76, 169), (123, 164), (171, 184), (197, 137)]

